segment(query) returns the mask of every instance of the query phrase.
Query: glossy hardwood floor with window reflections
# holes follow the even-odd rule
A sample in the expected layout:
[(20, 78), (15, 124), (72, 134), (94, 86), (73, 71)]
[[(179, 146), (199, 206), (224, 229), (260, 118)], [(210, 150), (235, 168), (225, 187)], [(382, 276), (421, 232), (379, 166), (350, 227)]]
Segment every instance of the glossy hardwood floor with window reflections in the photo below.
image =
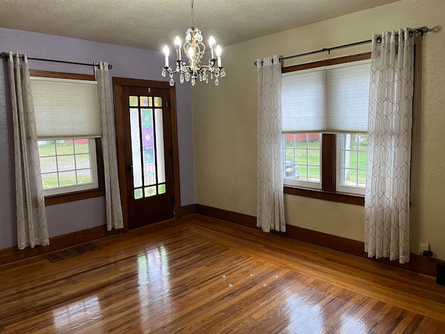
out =
[(0, 333), (445, 333), (435, 279), (204, 216), (0, 266)]

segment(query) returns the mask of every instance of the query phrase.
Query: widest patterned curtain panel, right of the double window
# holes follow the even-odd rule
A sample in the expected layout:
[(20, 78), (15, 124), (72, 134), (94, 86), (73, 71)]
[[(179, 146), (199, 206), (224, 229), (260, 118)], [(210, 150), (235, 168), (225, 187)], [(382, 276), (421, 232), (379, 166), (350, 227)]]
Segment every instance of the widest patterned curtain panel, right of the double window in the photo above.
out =
[(410, 29), (373, 36), (365, 193), (365, 251), (410, 261), (414, 42)]

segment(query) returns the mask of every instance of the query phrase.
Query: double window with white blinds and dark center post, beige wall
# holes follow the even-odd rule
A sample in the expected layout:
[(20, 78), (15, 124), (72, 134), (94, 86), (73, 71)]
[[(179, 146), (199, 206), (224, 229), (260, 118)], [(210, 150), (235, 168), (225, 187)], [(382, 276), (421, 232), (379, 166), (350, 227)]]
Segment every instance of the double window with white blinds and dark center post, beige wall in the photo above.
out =
[(285, 186), (364, 194), (369, 58), (283, 68)]

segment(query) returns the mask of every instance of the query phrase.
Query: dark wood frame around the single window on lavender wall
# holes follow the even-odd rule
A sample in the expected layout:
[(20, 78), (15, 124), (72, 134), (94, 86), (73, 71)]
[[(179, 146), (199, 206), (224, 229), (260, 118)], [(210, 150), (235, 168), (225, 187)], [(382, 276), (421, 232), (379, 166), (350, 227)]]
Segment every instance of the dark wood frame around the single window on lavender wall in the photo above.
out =
[[(95, 81), (95, 76), (92, 74), (75, 74), (75, 73), (65, 73), (65, 72), (49, 72), (40, 70), (30, 70), (29, 74), (31, 77), (48, 77), (48, 78), (58, 78), (58, 79), (74, 79), (74, 80), (88, 80)], [(60, 138), (65, 139), (65, 138)], [(66, 138), (71, 139), (71, 138)], [(104, 179), (104, 160), (102, 157), (102, 141), (101, 138), (91, 138), (90, 145), (95, 146), (96, 156), (92, 157), (96, 161), (96, 172), (95, 178), (97, 180), (97, 187), (93, 189), (70, 191), (65, 193), (58, 193), (52, 195), (44, 196), (45, 205), (54, 205), (64, 202), (72, 202), (74, 200), (83, 200), (87, 198), (95, 198), (100, 196), (105, 196), (105, 179)], [(69, 188), (69, 187), (67, 187)]]

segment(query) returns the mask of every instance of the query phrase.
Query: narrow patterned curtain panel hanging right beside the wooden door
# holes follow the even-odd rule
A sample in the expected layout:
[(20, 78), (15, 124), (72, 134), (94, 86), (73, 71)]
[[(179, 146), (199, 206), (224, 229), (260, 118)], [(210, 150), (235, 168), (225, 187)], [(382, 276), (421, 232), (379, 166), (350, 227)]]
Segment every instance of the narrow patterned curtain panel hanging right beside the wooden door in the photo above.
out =
[(106, 228), (111, 231), (112, 228), (124, 228), (124, 220), (120, 202), (118, 158), (108, 63), (102, 63), (102, 61), (97, 63), (95, 76), (99, 97), (102, 154), (104, 157)]

